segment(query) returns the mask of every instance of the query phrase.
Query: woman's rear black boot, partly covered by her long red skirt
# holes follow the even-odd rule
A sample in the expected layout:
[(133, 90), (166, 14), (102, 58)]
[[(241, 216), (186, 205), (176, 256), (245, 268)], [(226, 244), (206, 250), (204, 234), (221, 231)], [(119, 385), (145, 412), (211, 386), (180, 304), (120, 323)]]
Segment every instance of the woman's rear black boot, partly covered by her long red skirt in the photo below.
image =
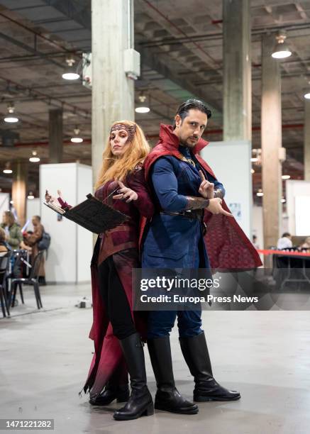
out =
[(116, 399), (117, 402), (127, 402), (129, 399), (128, 372), (125, 360), (115, 369), (104, 391), (96, 397), (89, 399), (92, 406), (107, 406)]

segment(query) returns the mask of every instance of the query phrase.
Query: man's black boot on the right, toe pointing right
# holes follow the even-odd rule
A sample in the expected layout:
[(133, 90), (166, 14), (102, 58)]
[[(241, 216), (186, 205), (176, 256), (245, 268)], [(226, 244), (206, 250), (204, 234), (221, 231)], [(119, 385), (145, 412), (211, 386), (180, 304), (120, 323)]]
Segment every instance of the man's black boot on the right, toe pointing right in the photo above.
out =
[(212, 375), (211, 362), (204, 332), (191, 338), (179, 338), (189, 371), (194, 377), (194, 401), (236, 401), (240, 393), (218, 384)]

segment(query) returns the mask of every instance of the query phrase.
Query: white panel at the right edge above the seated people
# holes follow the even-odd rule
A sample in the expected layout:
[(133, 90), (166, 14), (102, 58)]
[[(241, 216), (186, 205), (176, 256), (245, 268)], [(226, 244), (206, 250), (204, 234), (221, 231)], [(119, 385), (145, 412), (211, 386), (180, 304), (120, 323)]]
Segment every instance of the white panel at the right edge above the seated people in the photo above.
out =
[[(292, 235), (297, 235), (296, 233), (296, 221), (299, 216), (295, 213), (295, 198), (297, 196), (309, 196), (310, 197), (310, 182), (306, 181), (299, 181), (294, 179), (288, 179), (286, 181), (286, 199), (287, 199), (287, 216), (288, 216), (288, 227), (289, 227), (289, 233), (292, 233)], [(305, 212), (306, 210), (304, 210)], [(309, 222), (310, 222), (310, 217)], [(299, 234), (299, 235), (310, 235), (310, 223), (309, 223), (309, 231), (308, 233)]]

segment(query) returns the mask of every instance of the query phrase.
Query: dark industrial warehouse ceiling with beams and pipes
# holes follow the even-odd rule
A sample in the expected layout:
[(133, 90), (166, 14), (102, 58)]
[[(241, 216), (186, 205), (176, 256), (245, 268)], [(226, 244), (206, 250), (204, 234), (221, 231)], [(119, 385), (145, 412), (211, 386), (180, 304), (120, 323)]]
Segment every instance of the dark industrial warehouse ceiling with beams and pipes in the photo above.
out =
[[(36, 150), (48, 162), (48, 112), (62, 107), (64, 161), (91, 164), (91, 91), (61, 74), (73, 54), (79, 67), (82, 52), (91, 50), (90, 0), (0, 0), (0, 165), (28, 161)], [(310, 0), (252, 0), (253, 148), (260, 148), (261, 38), (278, 29), (287, 32), (292, 56), (281, 61), (282, 140), (287, 148), (284, 172), (302, 178), (304, 91), (310, 87)], [(213, 109), (206, 131), (222, 139), (223, 94), (222, 2), (215, 0), (135, 0), (135, 49), (142, 74), (135, 82), (135, 101), (148, 95), (150, 113), (136, 115), (152, 143), (160, 122), (170, 123), (181, 101), (198, 96)], [(2, 121), (13, 102), (20, 122)], [(84, 143), (72, 144), (75, 126)], [(11, 145), (13, 146), (9, 146)], [(29, 164), (33, 189), (38, 167)], [(253, 174), (261, 187), (260, 166)], [(0, 187), (10, 187), (10, 175)], [(37, 186), (38, 187), (38, 186)]]

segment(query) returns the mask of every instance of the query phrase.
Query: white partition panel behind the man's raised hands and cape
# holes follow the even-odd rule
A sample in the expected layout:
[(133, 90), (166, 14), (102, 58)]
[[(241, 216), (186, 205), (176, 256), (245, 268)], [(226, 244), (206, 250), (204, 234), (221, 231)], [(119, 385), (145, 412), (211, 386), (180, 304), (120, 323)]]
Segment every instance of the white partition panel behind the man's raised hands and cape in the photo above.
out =
[(226, 189), (225, 201), (248, 238), (252, 240), (252, 175), (251, 145), (248, 141), (211, 142), (201, 151), (201, 157), (214, 170)]

